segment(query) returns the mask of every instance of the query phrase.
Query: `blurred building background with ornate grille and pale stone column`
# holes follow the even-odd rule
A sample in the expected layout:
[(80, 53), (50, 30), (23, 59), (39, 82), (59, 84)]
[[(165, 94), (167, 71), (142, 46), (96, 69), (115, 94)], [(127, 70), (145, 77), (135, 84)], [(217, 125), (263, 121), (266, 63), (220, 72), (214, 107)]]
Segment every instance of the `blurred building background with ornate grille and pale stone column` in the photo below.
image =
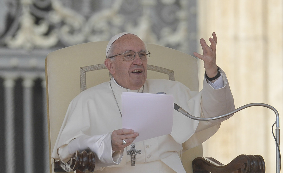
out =
[[(282, 113), (282, 0), (0, 0), (0, 172), (49, 172), (46, 55), (120, 32), (190, 55), (216, 32), (217, 65), (236, 107), (262, 102)], [(201, 61), (199, 75), (201, 89)], [(203, 143), (203, 154), (224, 164), (259, 154), (275, 172), (274, 122), (267, 108), (238, 112)]]

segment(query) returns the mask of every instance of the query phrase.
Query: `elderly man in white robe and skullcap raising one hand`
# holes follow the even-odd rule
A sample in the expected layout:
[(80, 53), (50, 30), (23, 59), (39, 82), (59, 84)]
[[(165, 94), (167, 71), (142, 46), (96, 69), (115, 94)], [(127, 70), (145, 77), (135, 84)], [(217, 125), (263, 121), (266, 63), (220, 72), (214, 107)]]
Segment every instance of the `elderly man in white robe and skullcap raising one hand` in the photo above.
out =
[[(216, 34), (209, 38), (210, 46), (200, 40), (204, 61), (203, 90), (192, 92), (177, 81), (147, 79), (147, 59), (150, 52), (134, 34), (115, 35), (106, 48), (105, 66), (112, 77), (109, 82), (91, 87), (70, 103), (55, 143), (52, 158), (68, 161), (76, 150), (90, 149), (95, 153), (98, 172), (178, 172), (184, 173), (179, 152), (182, 143), (198, 146), (220, 127), (217, 121), (194, 121), (174, 111), (172, 132), (133, 143), (139, 135), (132, 129), (122, 129), (122, 92), (157, 93), (174, 96), (174, 102), (198, 117), (222, 115), (235, 109), (234, 99), (225, 73), (216, 64)], [(188, 79), (189, 80), (189, 79)], [(227, 119), (227, 118), (226, 118)], [(135, 147), (133, 160), (127, 151)], [(129, 154), (129, 153), (128, 153)]]

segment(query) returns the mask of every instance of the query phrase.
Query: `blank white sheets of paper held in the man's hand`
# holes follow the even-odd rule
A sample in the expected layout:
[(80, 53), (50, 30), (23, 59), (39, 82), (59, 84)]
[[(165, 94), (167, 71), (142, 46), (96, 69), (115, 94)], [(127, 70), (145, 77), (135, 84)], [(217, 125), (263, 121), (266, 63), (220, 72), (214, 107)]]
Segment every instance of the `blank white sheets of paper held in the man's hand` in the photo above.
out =
[(133, 129), (138, 142), (170, 134), (173, 125), (172, 95), (122, 93), (122, 128)]

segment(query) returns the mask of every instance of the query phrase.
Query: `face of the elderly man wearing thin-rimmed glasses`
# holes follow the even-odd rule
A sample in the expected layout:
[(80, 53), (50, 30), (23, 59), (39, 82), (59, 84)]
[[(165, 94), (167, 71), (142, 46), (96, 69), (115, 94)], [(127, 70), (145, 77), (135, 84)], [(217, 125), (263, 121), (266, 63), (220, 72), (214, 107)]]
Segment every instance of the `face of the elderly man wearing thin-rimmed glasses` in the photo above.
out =
[[(112, 47), (114, 49), (110, 56), (129, 50), (133, 50), (134, 52), (146, 50), (143, 41), (133, 34), (123, 35), (114, 41)], [(138, 53), (136, 53), (135, 59), (131, 61), (125, 60), (124, 55), (113, 57), (112, 67), (109, 71), (115, 81), (124, 88), (131, 90), (140, 89), (146, 81), (147, 60), (141, 60)]]

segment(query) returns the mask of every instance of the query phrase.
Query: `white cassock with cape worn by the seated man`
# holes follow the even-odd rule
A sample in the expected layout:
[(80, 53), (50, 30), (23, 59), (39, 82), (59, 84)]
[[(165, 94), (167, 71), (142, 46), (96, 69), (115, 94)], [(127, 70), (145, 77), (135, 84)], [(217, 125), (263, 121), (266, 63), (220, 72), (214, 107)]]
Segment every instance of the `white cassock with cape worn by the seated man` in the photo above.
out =
[[(113, 79), (111, 85), (120, 107), (122, 92), (165, 92), (172, 94), (174, 102), (191, 115), (212, 117), (235, 109), (228, 80), (220, 71), (218, 80), (222, 80), (224, 87), (214, 89), (205, 79), (200, 92), (192, 92), (177, 81), (164, 79), (147, 79), (144, 86), (136, 91), (122, 88)], [(75, 150), (89, 148), (96, 156), (95, 170), (102, 172), (185, 172), (178, 156), (183, 150), (182, 143), (186, 142), (184, 149), (198, 146), (219, 129), (223, 120), (199, 122), (174, 111), (170, 135), (135, 143), (141, 154), (136, 155), (136, 166), (132, 167), (130, 156), (126, 155), (130, 146), (112, 154), (111, 133), (122, 128), (122, 118), (110, 84), (104, 82), (81, 92), (71, 101), (52, 158), (68, 161)]]

